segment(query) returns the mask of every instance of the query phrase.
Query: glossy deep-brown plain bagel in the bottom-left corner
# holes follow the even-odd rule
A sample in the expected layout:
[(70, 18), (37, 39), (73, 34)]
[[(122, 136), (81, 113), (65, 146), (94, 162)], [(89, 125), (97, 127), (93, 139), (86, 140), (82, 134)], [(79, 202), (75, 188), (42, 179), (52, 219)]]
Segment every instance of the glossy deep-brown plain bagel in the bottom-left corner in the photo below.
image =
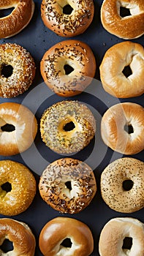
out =
[(13, 249), (7, 253), (0, 249), (1, 256), (34, 256), (36, 241), (26, 223), (14, 219), (0, 219), (0, 246), (5, 238), (12, 241)]

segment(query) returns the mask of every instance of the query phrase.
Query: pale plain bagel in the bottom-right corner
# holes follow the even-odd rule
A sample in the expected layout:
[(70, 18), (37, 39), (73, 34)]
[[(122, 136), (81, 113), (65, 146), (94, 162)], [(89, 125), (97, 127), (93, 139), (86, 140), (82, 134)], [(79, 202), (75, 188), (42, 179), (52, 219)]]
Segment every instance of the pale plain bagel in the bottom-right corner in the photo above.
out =
[(114, 218), (103, 227), (99, 238), (100, 256), (143, 256), (144, 225), (134, 218)]

